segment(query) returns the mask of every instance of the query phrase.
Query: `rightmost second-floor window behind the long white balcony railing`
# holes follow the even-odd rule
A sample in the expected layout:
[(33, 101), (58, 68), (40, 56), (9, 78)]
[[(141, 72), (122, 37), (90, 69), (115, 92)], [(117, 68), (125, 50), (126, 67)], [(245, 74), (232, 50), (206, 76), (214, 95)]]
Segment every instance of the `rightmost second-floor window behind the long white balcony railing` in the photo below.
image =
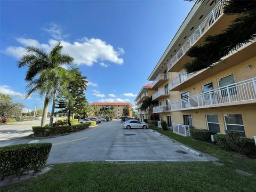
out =
[[(223, 90), (221, 91), (221, 97), (227, 97), (228, 92), (227, 92), (227, 87), (230, 84), (235, 83), (234, 75), (228, 75), (226, 77), (222, 77), (218, 79), (219, 87), (224, 87)], [(229, 95), (235, 95), (237, 94), (236, 87), (233, 87), (234, 85), (228, 86), (229, 90)]]

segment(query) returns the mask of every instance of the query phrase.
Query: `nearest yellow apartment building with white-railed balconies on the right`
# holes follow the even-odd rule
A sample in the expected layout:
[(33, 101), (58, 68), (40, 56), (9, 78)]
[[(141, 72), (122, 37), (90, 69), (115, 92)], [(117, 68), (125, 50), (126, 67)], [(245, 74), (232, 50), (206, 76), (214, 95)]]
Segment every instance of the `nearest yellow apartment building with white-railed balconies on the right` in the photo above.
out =
[(255, 42), (237, 45), (222, 58), (225, 62), (211, 68), (195, 74), (183, 69), (193, 59), (186, 55), (189, 47), (221, 33), (236, 17), (223, 14), (226, 1), (195, 4), (148, 77), (156, 89), (153, 100), (158, 101), (153, 111), (175, 133), (187, 136), (195, 127), (222, 134), (235, 130), (248, 138), (256, 135)]

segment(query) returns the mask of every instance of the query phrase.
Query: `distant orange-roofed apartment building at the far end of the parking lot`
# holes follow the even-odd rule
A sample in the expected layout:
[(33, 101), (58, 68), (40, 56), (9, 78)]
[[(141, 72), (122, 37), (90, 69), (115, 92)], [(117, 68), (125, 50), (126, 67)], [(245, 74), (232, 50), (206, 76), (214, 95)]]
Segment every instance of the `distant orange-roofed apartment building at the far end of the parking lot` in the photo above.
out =
[(123, 116), (123, 109), (125, 106), (129, 106), (129, 117), (132, 117), (132, 103), (129, 102), (92, 102), (91, 105), (97, 105), (98, 111), (95, 115), (99, 116), (100, 109), (114, 107), (114, 118), (120, 118)]

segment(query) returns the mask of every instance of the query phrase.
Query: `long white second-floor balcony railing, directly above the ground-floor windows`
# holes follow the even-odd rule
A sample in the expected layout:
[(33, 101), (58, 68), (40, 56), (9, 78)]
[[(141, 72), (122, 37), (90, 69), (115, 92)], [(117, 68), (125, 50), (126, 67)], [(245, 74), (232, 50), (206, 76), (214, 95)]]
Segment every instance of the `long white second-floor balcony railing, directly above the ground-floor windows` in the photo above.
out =
[(223, 105), (256, 99), (256, 77), (171, 102), (171, 110)]

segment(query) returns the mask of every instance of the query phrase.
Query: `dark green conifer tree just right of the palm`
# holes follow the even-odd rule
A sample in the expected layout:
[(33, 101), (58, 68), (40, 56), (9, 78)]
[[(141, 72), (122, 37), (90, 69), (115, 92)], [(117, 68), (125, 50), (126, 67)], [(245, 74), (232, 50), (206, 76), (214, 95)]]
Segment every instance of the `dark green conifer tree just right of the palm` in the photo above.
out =
[(60, 92), (57, 95), (57, 107), (64, 109), (68, 112), (68, 124), (70, 123), (71, 113), (78, 113), (83, 109), (83, 104), (86, 101), (84, 91), (87, 88), (87, 77), (82, 76), (82, 72), (77, 66), (72, 66), (69, 69), (69, 73), (74, 76), (74, 78), (69, 81), (67, 86), (67, 92)]

